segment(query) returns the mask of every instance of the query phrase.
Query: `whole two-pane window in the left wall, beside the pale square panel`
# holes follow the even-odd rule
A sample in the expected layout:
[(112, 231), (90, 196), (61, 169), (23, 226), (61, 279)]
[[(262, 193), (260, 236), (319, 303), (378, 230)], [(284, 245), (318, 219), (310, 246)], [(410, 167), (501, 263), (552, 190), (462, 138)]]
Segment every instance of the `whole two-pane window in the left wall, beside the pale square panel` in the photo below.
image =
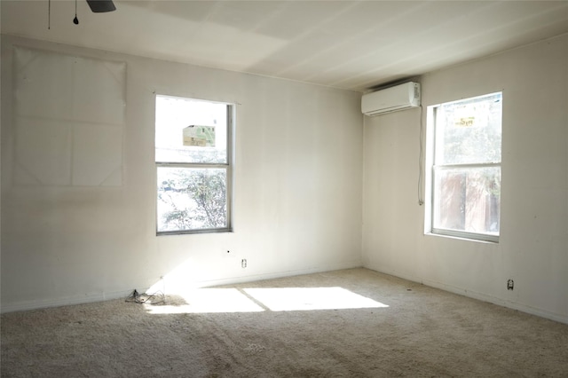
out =
[(156, 96), (157, 233), (231, 230), (233, 106)]

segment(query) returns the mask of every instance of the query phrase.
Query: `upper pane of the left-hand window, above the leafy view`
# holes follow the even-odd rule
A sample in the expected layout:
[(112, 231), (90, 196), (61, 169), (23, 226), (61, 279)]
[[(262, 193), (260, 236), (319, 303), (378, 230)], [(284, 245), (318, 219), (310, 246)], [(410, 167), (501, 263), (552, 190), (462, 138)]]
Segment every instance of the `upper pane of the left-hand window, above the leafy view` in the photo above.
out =
[(226, 104), (156, 96), (157, 162), (227, 162)]

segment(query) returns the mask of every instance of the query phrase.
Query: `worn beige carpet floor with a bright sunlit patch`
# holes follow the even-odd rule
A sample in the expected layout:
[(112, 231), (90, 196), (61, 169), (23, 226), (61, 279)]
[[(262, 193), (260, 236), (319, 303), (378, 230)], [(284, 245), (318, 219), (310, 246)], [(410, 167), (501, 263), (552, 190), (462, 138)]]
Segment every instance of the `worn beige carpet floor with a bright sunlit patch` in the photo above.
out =
[(568, 325), (366, 269), (1, 327), (3, 377), (568, 377)]

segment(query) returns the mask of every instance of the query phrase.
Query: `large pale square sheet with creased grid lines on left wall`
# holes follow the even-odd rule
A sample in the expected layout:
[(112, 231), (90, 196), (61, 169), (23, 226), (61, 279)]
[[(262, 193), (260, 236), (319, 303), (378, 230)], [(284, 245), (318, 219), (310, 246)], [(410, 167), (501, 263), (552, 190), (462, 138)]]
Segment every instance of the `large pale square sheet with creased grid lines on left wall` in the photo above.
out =
[(122, 185), (126, 63), (14, 48), (14, 180)]

